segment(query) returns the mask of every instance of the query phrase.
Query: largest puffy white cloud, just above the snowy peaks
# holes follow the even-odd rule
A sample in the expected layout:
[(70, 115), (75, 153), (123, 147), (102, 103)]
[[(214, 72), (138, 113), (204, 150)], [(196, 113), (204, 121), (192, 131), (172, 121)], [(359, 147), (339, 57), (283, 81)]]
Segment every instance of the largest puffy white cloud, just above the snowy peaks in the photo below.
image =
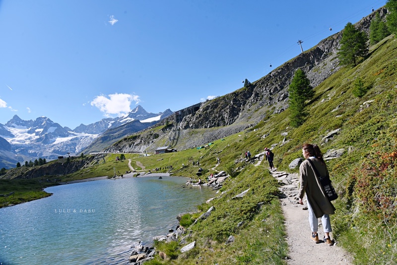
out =
[(139, 96), (130, 94), (111, 94), (106, 97), (105, 95), (96, 96), (91, 101), (91, 106), (97, 107), (104, 113), (105, 117), (112, 115), (123, 116), (131, 111), (131, 103), (140, 102)]

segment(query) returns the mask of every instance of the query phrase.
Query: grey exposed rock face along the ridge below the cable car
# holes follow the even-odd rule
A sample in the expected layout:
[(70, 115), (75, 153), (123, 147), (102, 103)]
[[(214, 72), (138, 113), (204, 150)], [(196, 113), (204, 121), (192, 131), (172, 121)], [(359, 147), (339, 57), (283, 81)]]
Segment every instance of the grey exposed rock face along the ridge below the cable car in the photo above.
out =
[[(385, 8), (380, 8), (379, 11), (381, 17), (387, 13)], [(369, 34), (375, 13), (363, 18), (355, 26)], [(186, 130), (235, 125), (236, 130), (241, 131), (247, 126), (247, 117), (258, 123), (270, 107), (275, 107), (273, 113), (284, 111), (288, 107), (288, 86), (297, 69), (304, 70), (311, 85), (316, 87), (340, 68), (337, 51), (342, 32), (322, 40), (317, 46), (277, 67), (248, 87), (204, 102), (199, 111), (184, 117), (180, 128)], [(259, 110), (261, 108), (263, 109)]]

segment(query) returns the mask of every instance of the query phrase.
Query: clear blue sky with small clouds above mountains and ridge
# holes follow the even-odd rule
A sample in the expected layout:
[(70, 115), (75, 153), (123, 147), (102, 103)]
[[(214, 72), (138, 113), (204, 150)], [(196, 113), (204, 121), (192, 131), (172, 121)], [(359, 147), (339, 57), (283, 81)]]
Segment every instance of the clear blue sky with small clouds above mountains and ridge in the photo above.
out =
[(298, 40), (310, 49), (385, 4), (1, 0), (0, 123), (46, 116), (74, 129), (137, 105), (177, 111), (260, 79), (299, 55)]

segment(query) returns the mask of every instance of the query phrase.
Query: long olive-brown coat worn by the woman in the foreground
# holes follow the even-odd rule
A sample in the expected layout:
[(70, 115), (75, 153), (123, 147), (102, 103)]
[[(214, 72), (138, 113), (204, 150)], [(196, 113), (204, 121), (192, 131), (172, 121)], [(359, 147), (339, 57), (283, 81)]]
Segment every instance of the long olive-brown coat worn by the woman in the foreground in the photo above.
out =
[[(330, 176), (327, 166), (322, 164), (319, 159), (310, 159), (321, 176)], [(320, 218), (324, 214), (335, 213), (335, 207), (332, 205), (331, 201), (328, 200), (323, 186), (320, 184), (320, 180), (315, 177), (312, 165), (307, 160), (303, 161), (299, 166), (299, 182), (300, 188), (298, 196), (303, 199), (306, 192), (307, 199), (317, 218)]]

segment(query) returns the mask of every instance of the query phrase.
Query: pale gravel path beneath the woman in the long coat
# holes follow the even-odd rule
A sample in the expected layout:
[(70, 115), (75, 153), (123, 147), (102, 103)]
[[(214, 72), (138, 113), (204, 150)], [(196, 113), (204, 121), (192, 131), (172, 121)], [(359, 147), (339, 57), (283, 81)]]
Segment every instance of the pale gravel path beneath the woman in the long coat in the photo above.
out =
[[(308, 210), (304, 210), (306, 206), (298, 203), (296, 195), (298, 194), (299, 176), (298, 174), (289, 174), (286, 172), (270, 172), (274, 178), (283, 182), (280, 191), (283, 192), (285, 198), (280, 199), (281, 207), (285, 218), (286, 240), (288, 242), (288, 260), (289, 265), (350, 265), (352, 258), (342, 248), (337, 246), (337, 242), (333, 246), (325, 243), (316, 244), (310, 239), (311, 230), (309, 225)], [(306, 208), (306, 207), (305, 207)], [(336, 209), (337, 210), (337, 209)], [(319, 239), (324, 237), (323, 228), (321, 227), (321, 219), (319, 219)], [(332, 215), (331, 215), (332, 224)], [(331, 239), (332, 239), (331, 233)]]

